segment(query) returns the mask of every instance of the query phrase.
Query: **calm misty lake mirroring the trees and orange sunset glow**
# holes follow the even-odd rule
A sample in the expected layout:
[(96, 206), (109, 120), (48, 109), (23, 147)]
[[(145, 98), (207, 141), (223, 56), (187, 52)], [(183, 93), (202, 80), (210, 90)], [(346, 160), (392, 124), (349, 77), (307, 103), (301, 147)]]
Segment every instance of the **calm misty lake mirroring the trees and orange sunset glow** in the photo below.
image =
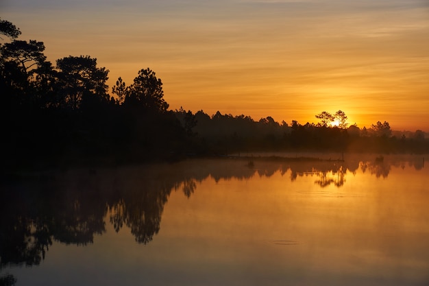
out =
[(429, 168), (423, 156), (375, 158), (29, 174), (1, 187), (0, 276), (5, 285), (427, 286)]

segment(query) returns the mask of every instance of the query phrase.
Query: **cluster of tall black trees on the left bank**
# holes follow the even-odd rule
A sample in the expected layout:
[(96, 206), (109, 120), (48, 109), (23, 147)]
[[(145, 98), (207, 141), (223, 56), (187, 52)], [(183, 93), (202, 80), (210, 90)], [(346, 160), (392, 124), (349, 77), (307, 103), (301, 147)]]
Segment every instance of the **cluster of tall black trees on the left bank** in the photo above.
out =
[(187, 132), (167, 110), (154, 71), (142, 69), (130, 86), (119, 79), (114, 99), (109, 71), (97, 67), (96, 58), (68, 56), (53, 67), (44, 50), (36, 40), (0, 46), (4, 169), (168, 159), (182, 152)]

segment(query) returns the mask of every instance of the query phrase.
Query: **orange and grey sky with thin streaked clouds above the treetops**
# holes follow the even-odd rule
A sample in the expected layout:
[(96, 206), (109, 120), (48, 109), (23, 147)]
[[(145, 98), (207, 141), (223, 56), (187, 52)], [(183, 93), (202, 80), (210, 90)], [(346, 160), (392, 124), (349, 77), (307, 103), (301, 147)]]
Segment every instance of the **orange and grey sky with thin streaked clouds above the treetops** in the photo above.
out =
[(0, 0), (55, 63), (149, 67), (170, 109), (429, 132), (429, 0)]

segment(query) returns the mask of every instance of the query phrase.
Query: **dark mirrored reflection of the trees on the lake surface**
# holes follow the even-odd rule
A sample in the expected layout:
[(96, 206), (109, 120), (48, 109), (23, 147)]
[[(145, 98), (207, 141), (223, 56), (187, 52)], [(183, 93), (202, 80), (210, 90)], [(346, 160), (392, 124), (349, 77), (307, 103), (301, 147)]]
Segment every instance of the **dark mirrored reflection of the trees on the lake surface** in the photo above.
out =
[[(106, 232), (105, 217), (119, 232), (126, 226), (138, 243), (149, 243), (160, 230), (164, 205), (172, 191), (190, 198), (197, 184), (211, 177), (247, 180), (280, 172), (295, 182), (314, 177), (321, 188), (342, 187), (358, 170), (387, 178), (391, 167), (424, 168), (424, 160), (345, 160), (279, 162), (199, 160), (173, 165), (76, 169), (27, 174), (1, 185), (0, 271), (6, 265), (38, 265), (53, 241), (85, 246)], [(24, 180), (25, 178), (25, 180)], [(3, 276), (2, 281), (13, 282)], [(5, 280), (6, 279), (6, 280)], [(3, 282), (2, 282), (3, 283)], [(12, 285), (12, 284), (11, 284)]]

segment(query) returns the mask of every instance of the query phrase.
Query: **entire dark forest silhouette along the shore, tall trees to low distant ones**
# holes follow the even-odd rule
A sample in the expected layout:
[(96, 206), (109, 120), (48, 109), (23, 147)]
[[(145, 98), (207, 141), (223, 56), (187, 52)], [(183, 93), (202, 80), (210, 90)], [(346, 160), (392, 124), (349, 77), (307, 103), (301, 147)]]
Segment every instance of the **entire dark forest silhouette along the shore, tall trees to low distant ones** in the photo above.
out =
[(398, 136), (386, 121), (360, 129), (348, 126), (341, 110), (305, 124), (169, 110), (162, 81), (149, 68), (110, 89), (109, 71), (96, 58), (67, 56), (54, 66), (44, 43), (17, 40), (21, 31), (9, 21), (0, 20), (0, 34), (3, 171), (261, 151), (429, 152), (421, 130)]

